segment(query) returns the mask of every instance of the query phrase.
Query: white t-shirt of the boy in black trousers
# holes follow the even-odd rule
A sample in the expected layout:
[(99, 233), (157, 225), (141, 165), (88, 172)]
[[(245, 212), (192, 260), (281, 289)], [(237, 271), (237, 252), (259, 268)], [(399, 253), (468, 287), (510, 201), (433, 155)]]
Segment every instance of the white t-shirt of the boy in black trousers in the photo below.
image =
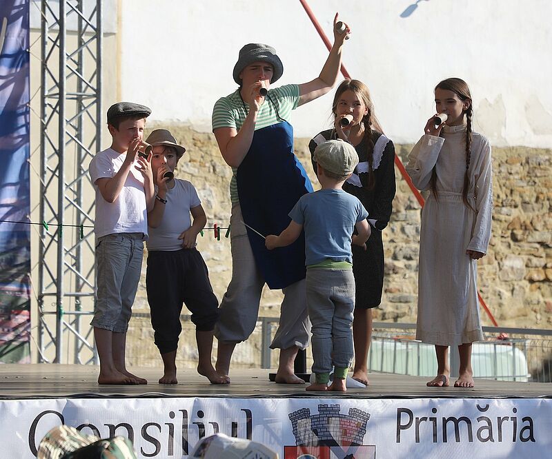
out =
[(150, 227), (150, 238), (146, 243), (148, 250), (180, 250), (182, 240), (178, 236), (192, 225), (190, 209), (201, 204), (194, 185), (179, 179), (175, 179), (172, 190), (167, 190), (166, 200), (161, 224), (157, 228)]

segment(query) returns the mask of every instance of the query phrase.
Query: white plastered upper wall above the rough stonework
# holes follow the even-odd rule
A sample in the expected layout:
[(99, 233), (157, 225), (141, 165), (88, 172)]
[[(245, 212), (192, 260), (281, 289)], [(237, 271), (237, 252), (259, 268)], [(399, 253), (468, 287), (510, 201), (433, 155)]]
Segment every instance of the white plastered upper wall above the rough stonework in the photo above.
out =
[[(368, 84), (395, 142), (417, 141), (433, 114), (433, 87), (460, 76), (471, 86), (478, 130), (494, 145), (551, 147), (550, 0), (309, 3), (326, 34), (336, 10), (351, 26), (344, 64)], [(119, 6), (120, 94), (149, 105), (157, 121), (209, 132), (213, 104), (236, 88), (232, 69), (245, 43), (277, 49), (284, 62), (277, 85), (315, 78), (327, 56), (299, 0), (120, 0)], [(297, 136), (329, 125), (331, 98), (295, 111)]]

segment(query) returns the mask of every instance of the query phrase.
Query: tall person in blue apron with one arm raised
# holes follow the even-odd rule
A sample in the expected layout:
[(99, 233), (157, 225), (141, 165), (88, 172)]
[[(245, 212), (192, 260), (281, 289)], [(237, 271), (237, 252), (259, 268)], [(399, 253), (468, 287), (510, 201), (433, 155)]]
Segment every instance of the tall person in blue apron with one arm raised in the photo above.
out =
[[(334, 18), (334, 30), (337, 14)], [(272, 89), (284, 65), (271, 46), (249, 43), (239, 51), (233, 70), (239, 88), (215, 103), (213, 133), (224, 161), (232, 167), (230, 244), (232, 280), (215, 326), (219, 340), (217, 372), (226, 378), (237, 343), (255, 329), (265, 283), (282, 289), (284, 300), (272, 349), (280, 349), (277, 383), (304, 384), (294, 374), (299, 349), (309, 343), (306, 314), (304, 238), (270, 252), (257, 234), (279, 233), (289, 224), (297, 200), (313, 190), (293, 152), (292, 110), (326, 94), (337, 81), (342, 45), (351, 30), (334, 32), (334, 43), (322, 72), (308, 83)], [(256, 232), (251, 228), (255, 228)], [(229, 380), (229, 379), (228, 379)]]

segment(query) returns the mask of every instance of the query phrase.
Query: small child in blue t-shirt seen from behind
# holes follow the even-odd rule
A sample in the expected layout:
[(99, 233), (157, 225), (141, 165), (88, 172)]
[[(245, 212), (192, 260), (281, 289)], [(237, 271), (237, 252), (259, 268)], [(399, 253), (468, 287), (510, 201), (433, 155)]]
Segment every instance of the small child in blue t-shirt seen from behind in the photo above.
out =
[[(313, 160), (322, 189), (299, 199), (289, 214), (289, 226), (279, 236), (266, 236), (266, 248), (286, 247), (304, 230), (306, 303), (313, 325), (316, 377), (307, 390), (346, 391), (347, 371), (353, 360), (355, 307), (351, 243), (366, 249), (368, 212), (358, 198), (342, 190), (358, 163), (353, 145), (342, 140), (321, 143)], [(355, 229), (357, 234), (353, 235)], [(332, 367), (333, 383), (328, 387)]]

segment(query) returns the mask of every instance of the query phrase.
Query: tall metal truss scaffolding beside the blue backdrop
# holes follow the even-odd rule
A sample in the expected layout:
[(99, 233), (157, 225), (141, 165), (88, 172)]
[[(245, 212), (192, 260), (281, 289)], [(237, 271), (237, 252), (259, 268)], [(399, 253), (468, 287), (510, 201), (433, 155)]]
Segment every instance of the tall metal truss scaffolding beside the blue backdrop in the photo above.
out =
[(40, 6), (39, 362), (96, 360), (88, 325), (95, 289), (88, 163), (101, 145), (101, 4)]

